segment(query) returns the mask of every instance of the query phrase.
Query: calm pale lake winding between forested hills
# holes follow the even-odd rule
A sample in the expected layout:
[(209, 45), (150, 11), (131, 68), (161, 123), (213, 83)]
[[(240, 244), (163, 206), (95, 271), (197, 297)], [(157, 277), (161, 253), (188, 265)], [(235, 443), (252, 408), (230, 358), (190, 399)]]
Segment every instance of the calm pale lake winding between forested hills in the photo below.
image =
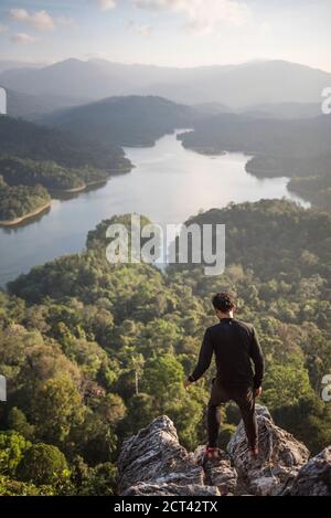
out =
[(107, 184), (71, 200), (53, 200), (51, 210), (22, 226), (0, 229), (0, 285), (32, 266), (81, 252), (87, 232), (114, 214), (137, 212), (156, 223), (181, 223), (200, 210), (231, 201), (288, 198), (288, 179), (260, 180), (245, 171), (249, 157), (229, 154), (206, 157), (186, 150), (168, 135), (152, 148), (125, 148), (136, 166)]

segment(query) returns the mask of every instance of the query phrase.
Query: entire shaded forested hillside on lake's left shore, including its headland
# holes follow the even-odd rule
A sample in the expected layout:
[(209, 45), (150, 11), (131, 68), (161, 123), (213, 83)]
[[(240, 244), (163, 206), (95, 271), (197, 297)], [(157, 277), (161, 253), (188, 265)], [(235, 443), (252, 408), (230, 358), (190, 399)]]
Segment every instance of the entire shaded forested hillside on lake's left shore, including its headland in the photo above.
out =
[(45, 189), (79, 191), (131, 168), (116, 145), (1, 116), (0, 220), (15, 224), (33, 215), (51, 200)]

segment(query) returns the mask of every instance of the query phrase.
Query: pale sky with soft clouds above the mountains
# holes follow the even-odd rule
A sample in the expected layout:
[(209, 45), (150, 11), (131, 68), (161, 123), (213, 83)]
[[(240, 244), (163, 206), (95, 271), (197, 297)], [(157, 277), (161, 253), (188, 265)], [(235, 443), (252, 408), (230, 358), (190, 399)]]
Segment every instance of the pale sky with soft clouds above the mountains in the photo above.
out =
[(0, 60), (163, 66), (287, 60), (331, 72), (331, 0), (0, 0)]

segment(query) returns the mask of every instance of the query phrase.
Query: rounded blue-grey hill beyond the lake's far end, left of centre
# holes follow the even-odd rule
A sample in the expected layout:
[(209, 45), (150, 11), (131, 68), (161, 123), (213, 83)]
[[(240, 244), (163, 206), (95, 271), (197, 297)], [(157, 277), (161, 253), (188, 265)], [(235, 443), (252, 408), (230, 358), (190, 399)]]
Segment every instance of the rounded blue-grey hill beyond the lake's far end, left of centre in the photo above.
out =
[(42, 123), (96, 141), (152, 146), (175, 128), (191, 127), (194, 109), (153, 96), (109, 97), (46, 116)]

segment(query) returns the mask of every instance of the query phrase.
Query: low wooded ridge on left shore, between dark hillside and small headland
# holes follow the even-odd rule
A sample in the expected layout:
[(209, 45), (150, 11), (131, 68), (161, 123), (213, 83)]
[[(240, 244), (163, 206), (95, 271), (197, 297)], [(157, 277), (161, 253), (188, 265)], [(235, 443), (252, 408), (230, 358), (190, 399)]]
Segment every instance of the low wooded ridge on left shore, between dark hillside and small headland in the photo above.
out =
[(86, 183), (106, 181), (106, 171), (93, 168), (67, 169), (54, 161), (35, 161), (26, 158), (0, 156), (0, 175), (9, 186), (35, 186), (51, 190), (84, 189)]

